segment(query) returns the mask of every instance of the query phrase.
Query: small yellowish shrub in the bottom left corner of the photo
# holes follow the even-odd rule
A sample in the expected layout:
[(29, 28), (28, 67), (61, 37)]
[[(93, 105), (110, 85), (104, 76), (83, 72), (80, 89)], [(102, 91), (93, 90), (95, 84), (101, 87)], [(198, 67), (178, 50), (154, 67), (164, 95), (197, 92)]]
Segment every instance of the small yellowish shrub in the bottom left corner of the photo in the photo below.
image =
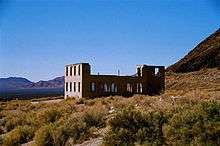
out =
[(30, 126), (18, 126), (7, 133), (3, 140), (5, 146), (16, 146), (30, 141), (34, 136), (34, 129)]

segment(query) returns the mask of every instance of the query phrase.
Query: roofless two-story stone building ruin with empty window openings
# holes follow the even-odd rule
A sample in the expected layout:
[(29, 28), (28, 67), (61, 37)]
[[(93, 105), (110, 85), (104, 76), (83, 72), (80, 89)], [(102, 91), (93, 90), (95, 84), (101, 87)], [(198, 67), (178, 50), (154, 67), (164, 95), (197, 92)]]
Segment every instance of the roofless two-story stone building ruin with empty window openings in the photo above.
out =
[(65, 66), (65, 99), (110, 95), (154, 95), (165, 89), (164, 66), (137, 65), (132, 76), (92, 75), (88, 63)]

